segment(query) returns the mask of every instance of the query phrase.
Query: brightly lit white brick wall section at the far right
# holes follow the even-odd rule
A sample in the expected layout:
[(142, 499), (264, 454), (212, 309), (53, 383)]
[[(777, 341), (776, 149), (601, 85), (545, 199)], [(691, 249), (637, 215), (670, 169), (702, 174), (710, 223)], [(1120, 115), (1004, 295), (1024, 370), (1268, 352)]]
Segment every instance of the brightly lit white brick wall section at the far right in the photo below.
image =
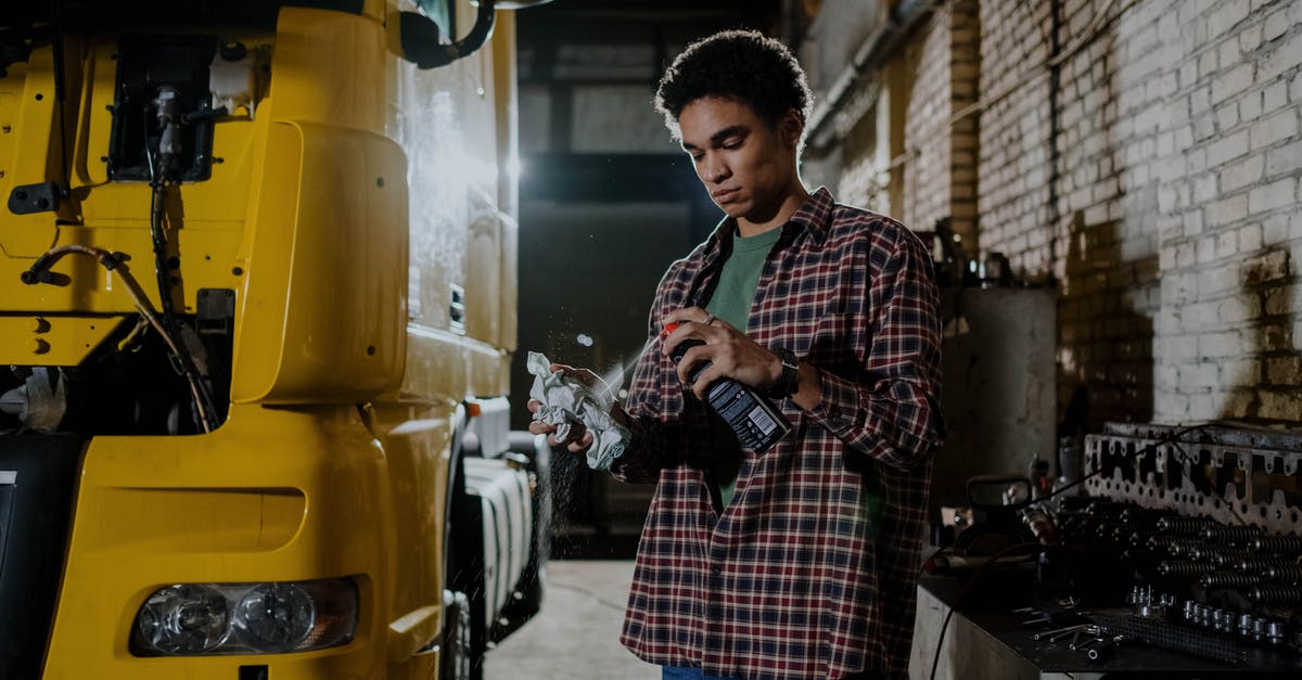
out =
[(1161, 23), (1178, 60), (1155, 125), (1159, 412), (1302, 422), (1302, 3), (1180, 4)]

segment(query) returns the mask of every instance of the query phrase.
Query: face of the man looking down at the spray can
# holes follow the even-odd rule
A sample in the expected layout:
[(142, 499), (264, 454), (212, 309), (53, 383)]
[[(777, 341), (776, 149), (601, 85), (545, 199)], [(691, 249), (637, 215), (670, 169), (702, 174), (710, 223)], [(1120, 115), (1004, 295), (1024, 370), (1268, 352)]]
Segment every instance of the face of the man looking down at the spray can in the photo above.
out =
[(773, 129), (749, 106), (708, 96), (682, 108), (678, 128), (697, 176), (729, 218), (762, 216), (790, 191), (799, 135), (794, 116)]

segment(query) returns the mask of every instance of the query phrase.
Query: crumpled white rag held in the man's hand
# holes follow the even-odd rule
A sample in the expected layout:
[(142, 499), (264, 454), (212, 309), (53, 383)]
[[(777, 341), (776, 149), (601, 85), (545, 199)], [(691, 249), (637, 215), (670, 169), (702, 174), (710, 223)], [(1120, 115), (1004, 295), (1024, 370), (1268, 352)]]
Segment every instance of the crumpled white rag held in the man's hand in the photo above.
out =
[(594, 390), (564, 371), (552, 373), (552, 362), (538, 352), (529, 353), (529, 373), (534, 374), (531, 399), (542, 405), (534, 419), (556, 426), (556, 439), (564, 440), (574, 425), (592, 432), (592, 446), (587, 449), (587, 466), (604, 470), (628, 446), (629, 430), (611, 418), (615, 397), (609, 390)]

